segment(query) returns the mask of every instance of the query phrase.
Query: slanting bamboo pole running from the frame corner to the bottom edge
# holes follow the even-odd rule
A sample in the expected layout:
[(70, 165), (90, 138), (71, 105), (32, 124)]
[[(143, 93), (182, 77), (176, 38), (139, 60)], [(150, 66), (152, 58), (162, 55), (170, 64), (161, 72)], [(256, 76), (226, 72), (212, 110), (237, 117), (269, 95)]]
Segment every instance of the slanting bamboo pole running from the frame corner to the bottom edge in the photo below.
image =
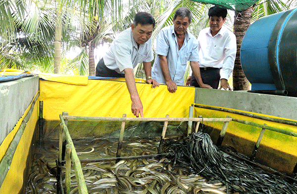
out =
[(71, 146), (71, 158), (72, 158), (72, 162), (73, 162), (73, 168), (75, 170), (75, 177), (76, 177), (78, 188), (79, 188), (78, 189), (79, 194), (88, 194), (88, 189), (87, 189), (86, 182), (84, 179), (84, 174), (82, 171), (81, 163), (77, 156), (75, 147), (74, 147), (72, 139), (70, 137), (68, 128), (65, 125), (62, 114), (60, 114), (60, 120), (61, 120), (61, 125), (64, 129), (66, 140), (67, 140), (68, 144)]

